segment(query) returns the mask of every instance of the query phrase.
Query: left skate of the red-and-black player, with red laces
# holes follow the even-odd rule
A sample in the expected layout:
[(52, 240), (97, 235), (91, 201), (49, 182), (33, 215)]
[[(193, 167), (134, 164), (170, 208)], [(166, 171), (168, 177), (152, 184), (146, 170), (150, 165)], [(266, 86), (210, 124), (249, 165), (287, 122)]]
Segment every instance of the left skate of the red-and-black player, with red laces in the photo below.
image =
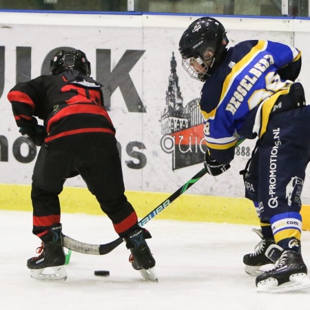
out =
[[(52, 225), (50, 234), (53, 237), (51, 242), (42, 242), (37, 248), (37, 257), (27, 261), (27, 267), (31, 269), (31, 277), (39, 280), (65, 280), (67, 273), (65, 265), (65, 253), (61, 242), (61, 224)], [(43, 273), (45, 268), (51, 267), (54, 273)]]

